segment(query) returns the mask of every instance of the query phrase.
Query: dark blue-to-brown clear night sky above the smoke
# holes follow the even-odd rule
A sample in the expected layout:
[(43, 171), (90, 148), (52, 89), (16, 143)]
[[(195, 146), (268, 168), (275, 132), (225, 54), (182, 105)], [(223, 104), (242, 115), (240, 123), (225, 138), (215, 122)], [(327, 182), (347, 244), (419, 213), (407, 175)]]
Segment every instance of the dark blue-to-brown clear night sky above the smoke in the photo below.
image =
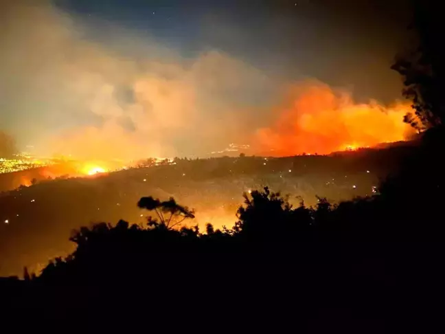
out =
[(184, 56), (221, 49), (273, 74), (292, 79), (310, 76), (330, 85), (354, 87), (357, 98), (388, 102), (400, 93), (400, 80), (388, 65), (406, 37), (407, 1), (56, 3), (87, 21), (102, 19), (149, 34)]

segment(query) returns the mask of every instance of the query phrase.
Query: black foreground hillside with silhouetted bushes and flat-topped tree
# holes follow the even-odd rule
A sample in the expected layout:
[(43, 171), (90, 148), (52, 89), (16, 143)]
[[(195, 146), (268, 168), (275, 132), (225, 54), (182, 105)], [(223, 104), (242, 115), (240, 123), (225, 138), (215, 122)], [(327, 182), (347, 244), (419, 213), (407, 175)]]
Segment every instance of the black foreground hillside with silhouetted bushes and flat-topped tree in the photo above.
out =
[[(26, 319), (21, 329), (41, 322), (70, 324), (67, 331), (82, 332), (124, 326), (126, 333), (144, 326), (152, 331), (432, 331), (441, 310), (432, 302), (442, 296), (437, 263), (443, 245), (406, 238), (409, 225), (391, 219), (368, 225), (366, 205), (381, 209), (375, 201), (357, 201), (355, 210), (347, 204), (347, 211), (321, 201), (312, 210), (290, 208), (268, 189), (254, 191), (233, 229), (208, 225), (203, 234), (196, 227), (169, 229), (169, 213), (176, 219), (188, 210), (144, 198), (138, 205), (159, 209), (163, 223), (84, 227), (71, 237), (76, 250), (56, 258), (37, 277), (25, 271), (25, 280), (0, 280), (8, 306), (3, 324)], [(348, 216), (358, 224), (350, 225)], [(385, 219), (379, 214), (373, 219), (379, 217)]]

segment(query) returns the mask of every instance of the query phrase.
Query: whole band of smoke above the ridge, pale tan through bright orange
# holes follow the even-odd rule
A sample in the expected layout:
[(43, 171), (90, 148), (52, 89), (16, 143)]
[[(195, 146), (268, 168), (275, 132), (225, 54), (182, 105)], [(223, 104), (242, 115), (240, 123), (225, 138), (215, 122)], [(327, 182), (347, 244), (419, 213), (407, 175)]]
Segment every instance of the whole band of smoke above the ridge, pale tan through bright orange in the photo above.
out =
[(0, 10), (1, 124), (39, 154), (204, 155), (230, 142), (329, 153), (407, 134), (405, 104), (355, 106), (350, 92), (336, 95), (317, 80), (274, 76), (211, 46), (187, 57), (144, 32), (79, 19), (46, 0)]

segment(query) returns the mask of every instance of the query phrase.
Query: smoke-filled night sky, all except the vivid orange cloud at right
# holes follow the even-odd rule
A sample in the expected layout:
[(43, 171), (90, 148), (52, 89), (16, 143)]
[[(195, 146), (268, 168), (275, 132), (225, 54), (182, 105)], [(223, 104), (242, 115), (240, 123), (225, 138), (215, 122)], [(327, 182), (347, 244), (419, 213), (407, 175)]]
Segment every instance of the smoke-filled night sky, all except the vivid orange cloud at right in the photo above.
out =
[[(407, 41), (406, 2), (10, 1), (0, 8), (3, 130), (47, 148), (87, 127), (78, 137), (97, 147), (129, 133), (121, 144), (190, 154), (205, 137), (203, 152), (264, 126), (285, 87), (308, 78), (389, 103), (401, 98), (389, 66)], [(163, 93), (147, 93), (154, 85)], [(46, 151), (57, 150), (76, 151)]]

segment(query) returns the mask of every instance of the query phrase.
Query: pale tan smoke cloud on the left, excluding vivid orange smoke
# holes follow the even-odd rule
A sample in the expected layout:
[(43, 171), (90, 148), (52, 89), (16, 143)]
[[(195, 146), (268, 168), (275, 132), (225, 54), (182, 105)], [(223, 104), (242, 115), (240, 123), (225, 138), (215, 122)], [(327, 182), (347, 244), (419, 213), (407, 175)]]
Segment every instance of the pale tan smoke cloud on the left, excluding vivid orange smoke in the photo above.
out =
[(184, 59), (119, 27), (92, 41), (89, 25), (48, 1), (0, 10), (1, 118), (40, 153), (205, 153), (243, 132), (240, 93), (258, 96), (269, 85), (257, 69), (216, 50)]

